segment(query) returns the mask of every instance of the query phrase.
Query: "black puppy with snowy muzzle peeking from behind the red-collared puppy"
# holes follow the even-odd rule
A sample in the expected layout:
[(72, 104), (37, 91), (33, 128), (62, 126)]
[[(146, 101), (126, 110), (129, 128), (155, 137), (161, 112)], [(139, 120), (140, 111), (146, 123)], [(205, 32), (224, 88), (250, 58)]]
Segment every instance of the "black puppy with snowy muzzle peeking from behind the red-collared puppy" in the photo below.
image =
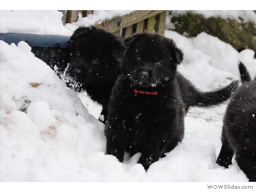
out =
[(70, 38), (71, 60), (64, 81), (76, 91), (86, 91), (102, 105), (107, 117), (111, 89), (120, 73), (124, 43), (115, 35), (95, 27), (81, 27)]

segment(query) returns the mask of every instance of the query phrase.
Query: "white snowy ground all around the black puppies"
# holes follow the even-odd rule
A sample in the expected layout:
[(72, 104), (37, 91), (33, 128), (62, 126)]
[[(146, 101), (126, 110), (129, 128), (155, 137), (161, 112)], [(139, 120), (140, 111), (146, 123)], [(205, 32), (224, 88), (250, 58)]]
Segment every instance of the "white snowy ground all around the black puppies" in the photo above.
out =
[[(2, 20), (2, 14), (1, 26), (10, 19)], [(56, 14), (51, 22), (60, 19), (49, 14)], [(19, 25), (14, 27), (22, 30)], [(166, 30), (165, 36), (185, 54), (179, 71), (204, 91), (238, 79), (238, 59), (255, 74), (252, 50), (238, 53), (206, 33), (186, 38)], [(82, 94), (84, 107), (25, 42), (0, 43), (2, 181), (247, 181), (234, 159), (226, 170), (215, 164), (226, 105), (189, 110), (183, 141), (146, 173), (137, 164), (138, 155), (124, 163), (105, 155), (100, 106)]]

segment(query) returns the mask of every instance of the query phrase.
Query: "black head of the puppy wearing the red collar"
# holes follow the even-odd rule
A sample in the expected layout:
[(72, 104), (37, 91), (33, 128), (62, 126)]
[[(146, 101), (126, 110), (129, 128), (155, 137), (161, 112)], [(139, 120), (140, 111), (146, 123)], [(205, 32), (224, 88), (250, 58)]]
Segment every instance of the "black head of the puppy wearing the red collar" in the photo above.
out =
[(125, 39), (123, 73), (142, 87), (158, 87), (171, 81), (183, 53), (172, 39), (142, 33)]

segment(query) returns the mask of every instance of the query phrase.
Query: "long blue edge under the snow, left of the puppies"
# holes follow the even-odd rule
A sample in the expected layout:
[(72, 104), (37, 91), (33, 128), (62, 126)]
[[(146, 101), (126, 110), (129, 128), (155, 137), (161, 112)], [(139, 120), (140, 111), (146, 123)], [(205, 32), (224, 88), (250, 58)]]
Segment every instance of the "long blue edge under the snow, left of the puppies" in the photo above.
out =
[(0, 40), (11, 44), (18, 44), (20, 41), (25, 41), (29, 46), (36, 47), (70, 47), (70, 36), (61, 35), (35, 35), (21, 33), (6, 33), (0, 34)]

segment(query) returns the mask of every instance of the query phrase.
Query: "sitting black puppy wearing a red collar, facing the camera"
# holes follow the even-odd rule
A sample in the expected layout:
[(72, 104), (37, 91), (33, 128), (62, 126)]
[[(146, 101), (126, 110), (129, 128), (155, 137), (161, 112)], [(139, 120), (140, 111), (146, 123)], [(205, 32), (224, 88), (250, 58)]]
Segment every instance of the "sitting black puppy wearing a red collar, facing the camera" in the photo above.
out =
[(157, 34), (134, 35), (125, 44), (123, 74), (109, 101), (107, 154), (122, 162), (124, 151), (141, 152), (147, 170), (183, 138), (186, 109), (176, 76), (183, 54)]

